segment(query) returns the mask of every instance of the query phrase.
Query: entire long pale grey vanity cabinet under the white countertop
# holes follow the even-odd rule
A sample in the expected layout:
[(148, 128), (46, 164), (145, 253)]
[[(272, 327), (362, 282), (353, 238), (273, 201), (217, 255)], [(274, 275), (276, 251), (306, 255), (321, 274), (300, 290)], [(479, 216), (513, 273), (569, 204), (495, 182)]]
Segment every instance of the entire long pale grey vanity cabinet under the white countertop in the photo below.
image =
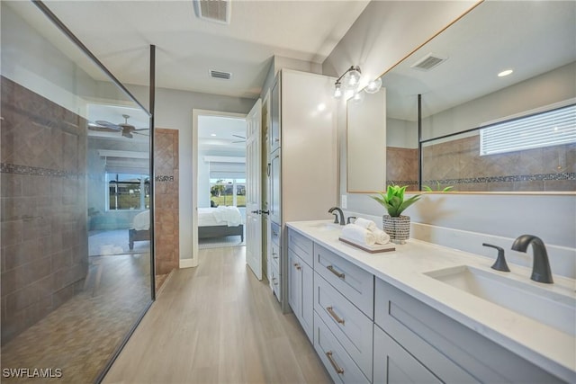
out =
[[(358, 251), (327, 241), (326, 229), (322, 232), (316, 229), (321, 225), (311, 226), (318, 237), (300, 229), (310, 228), (302, 222), (288, 228), (291, 264), (313, 272), (305, 277), (300, 270), (294, 271), (290, 302), (309, 337), (312, 326), (314, 349), (334, 382), (573, 382), (550, 373), (556, 368), (550, 363), (529, 361), (537, 353), (520, 354), (517, 344), (498, 344), (489, 338), (490, 329), (466, 326), (426, 297), (418, 299), (401, 290), (403, 274), (392, 279), (400, 284), (396, 286), (384, 281), (382, 274), (386, 274), (377, 267), (374, 272), (374, 266), (363, 266), (373, 260), (382, 265), (390, 257), (392, 268), (398, 268), (401, 255), (409, 259), (410, 270), (403, 272), (408, 276), (414, 256), (363, 254), (361, 261), (355, 260)], [(421, 256), (417, 257), (416, 262)], [(307, 293), (311, 286), (312, 295)]]

